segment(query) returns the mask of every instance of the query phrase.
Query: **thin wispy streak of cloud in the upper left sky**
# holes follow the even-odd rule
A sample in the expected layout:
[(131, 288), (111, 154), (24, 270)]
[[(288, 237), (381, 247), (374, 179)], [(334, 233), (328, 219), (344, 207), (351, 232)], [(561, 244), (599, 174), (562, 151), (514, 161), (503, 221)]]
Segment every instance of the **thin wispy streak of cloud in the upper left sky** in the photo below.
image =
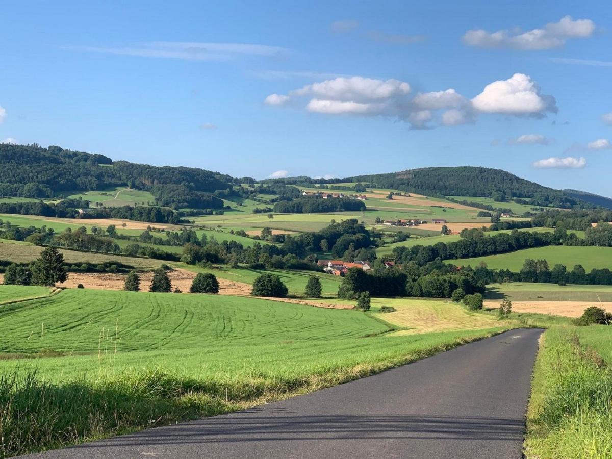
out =
[(268, 45), (198, 42), (149, 42), (135, 47), (65, 47), (64, 49), (185, 61), (230, 61), (241, 56), (277, 57), (288, 53), (285, 48)]

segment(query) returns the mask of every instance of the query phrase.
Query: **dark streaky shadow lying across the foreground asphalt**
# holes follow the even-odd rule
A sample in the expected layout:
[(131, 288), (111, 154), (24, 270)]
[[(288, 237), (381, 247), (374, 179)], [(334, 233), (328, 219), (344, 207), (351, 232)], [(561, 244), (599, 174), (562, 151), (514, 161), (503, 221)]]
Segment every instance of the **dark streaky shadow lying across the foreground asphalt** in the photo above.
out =
[(182, 425), (155, 428), (76, 448), (324, 439), (522, 441), (524, 433), (523, 420), (493, 417), (288, 416), (285, 409), (267, 409), (270, 416), (258, 416), (259, 411), (255, 408)]

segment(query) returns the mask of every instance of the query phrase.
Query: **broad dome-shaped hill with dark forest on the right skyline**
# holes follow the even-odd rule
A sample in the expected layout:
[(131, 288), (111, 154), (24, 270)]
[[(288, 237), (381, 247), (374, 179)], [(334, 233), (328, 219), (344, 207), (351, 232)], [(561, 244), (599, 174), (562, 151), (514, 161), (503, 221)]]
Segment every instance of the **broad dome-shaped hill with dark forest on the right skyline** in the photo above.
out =
[(428, 196), (483, 196), (496, 201), (523, 198), (537, 205), (566, 208), (585, 204), (577, 196), (543, 187), (509, 172), (474, 166), (428, 167), (390, 174), (346, 177), (341, 182), (375, 183), (381, 188)]

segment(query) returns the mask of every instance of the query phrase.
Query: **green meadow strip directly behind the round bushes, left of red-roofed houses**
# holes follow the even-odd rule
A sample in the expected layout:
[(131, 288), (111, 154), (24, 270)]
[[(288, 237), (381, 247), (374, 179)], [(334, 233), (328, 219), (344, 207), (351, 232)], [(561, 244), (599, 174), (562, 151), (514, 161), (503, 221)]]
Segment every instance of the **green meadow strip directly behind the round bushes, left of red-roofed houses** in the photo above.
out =
[(290, 295), (302, 296), (306, 288), (306, 283), (311, 275), (316, 275), (321, 280), (322, 294), (323, 296), (336, 296), (338, 293), (338, 287), (342, 281), (341, 277), (326, 274), (324, 272), (315, 271), (299, 271), (294, 269), (248, 269), (248, 268), (229, 268), (222, 267), (220, 269), (206, 269), (190, 264), (176, 263), (173, 266), (187, 271), (193, 272), (211, 272), (215, 276), (234, 280), (236, 282), (242, 282), (252, 285), (255, 278), (262, 274), (276, 274), (285, 283), (289, 289)]

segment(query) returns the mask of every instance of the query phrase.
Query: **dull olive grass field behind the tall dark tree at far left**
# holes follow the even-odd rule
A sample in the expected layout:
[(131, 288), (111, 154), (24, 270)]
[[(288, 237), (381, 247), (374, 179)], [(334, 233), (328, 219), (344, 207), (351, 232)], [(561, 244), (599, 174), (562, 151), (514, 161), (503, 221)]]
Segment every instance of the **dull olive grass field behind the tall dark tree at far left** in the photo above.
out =
[[(13, 244), (15, 241), (0, 239), (0, 259), (14, 261), (15, 263), (29, 263), (39, 258), (43, 248), (37, 245), (22, 242)], [(162, 260), (141, 258), (122, 255), (105, 255), (102, 253), (77, 252), (76, 250), (59, 250), (64, 255), (66, 263), (104, 263), (105, 261), (118, 261), (136, 268), (152, 268), (167, 263)]]

